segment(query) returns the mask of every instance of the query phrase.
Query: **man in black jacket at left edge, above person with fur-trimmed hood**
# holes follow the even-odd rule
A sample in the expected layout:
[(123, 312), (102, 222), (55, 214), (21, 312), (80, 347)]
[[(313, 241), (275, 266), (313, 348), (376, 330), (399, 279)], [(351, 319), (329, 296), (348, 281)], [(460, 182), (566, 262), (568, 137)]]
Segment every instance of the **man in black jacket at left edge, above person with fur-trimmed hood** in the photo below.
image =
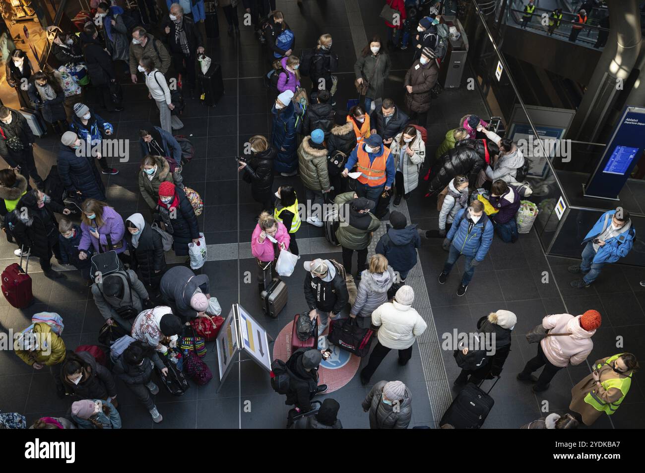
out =
[(0, 156), (12, 168), (19, 168), (16, 170), (27, 180), (27, 189), (30, 189), (30, 176), (36, 185), (43, 182), (34, 162), (32, 146), (35, 140), (21, 113), (0, 106)]

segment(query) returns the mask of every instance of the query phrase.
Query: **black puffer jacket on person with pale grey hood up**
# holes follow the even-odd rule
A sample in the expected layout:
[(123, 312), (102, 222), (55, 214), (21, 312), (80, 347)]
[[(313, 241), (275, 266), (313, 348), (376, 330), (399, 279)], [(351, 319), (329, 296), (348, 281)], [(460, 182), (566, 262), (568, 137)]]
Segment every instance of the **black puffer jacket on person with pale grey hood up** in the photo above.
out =
[[(166, 256), (159, 232), (146, 223), (139, 235), (139, 246), (136, 248), (132, 246), (132, 234), (129, 231), (126, 231), (125, 239), (132, 256), (130, 269), (137, 272), (143, 284), (154, 288), (159, 287), (159, 280), (166, 270)], [(155, 271), (159, 272), (155, 273)]]

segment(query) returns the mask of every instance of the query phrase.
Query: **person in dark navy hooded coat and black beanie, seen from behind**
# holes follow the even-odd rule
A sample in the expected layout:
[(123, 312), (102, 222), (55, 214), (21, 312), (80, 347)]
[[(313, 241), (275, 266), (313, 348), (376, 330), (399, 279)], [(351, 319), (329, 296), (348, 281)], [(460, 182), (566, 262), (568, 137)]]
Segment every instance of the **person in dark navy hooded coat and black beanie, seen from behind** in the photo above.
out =
[(390, 212), (391, 228), (388, 228), (376, 244), (375, 252), (385, 256), (394, 271), (399, 272), (401, 282), (405, 282), (412, 269), (417, 264), (417, 248), (421, 237), (417, 225), (408, 225), (408, 220), (401, 212)]

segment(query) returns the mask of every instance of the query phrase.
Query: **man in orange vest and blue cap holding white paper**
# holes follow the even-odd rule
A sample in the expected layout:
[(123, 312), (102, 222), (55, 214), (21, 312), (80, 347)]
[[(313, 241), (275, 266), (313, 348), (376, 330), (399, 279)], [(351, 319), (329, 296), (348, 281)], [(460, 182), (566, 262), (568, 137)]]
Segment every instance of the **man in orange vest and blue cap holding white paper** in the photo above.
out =
[(360, 172), (356, 193), (375, 203), (379, 202), (383, 190), (390, 190), (394, 182), (394, 159), (390, 150), (383, 145), (380, 135), (370, 135), (350, 153), (342, 176), (347, 177), (352, 168)]

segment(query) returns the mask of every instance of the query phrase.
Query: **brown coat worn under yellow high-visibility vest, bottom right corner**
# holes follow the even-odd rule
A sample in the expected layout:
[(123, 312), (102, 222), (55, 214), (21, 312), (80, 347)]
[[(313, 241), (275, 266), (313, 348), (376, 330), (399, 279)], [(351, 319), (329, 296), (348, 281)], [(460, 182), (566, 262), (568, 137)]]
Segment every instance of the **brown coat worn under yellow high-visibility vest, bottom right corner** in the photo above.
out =
[[(599, 369), (601, 383), (602, 381), (611, 380), (613, 378), (619, 378), (622, 380), (631, 375), (631, 370), (624, 373), (613, 371), (613, 367), (605, 364), (608, 358), (611, 358), (611, 356), (601, 358), (593, 363), (594, 367), (602, 365)], [(571, 404), (569, 405), (569, 409), (581, 414), (584, 425), (593, 424), (604, 413), (604, 411), (596, 410), (593, 406), (584, 401), (585, 396), (591, 391), (596, 391), (596, 394), (603, 402), (616, 402), (622, 397), (620, 389), (611, 388), (608, 391), (605, 391), (604, 387), (599, 387), (593, 380), (593, 376), (591, 374), (583, 378), (582, 381), (571, 389)]]

